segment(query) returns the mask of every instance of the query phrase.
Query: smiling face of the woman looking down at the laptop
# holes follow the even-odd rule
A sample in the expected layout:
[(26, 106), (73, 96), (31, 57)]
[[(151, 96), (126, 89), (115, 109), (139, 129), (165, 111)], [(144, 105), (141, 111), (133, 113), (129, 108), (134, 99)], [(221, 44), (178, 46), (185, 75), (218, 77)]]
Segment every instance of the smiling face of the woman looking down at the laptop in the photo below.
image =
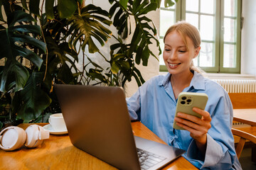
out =
[(164, 63), (171, 74), (188, 74), (193, 58), (195, 58), (201, 47), (195, 48), (190, 38), (186, 37), (188, 49), (181, 35), (174, 31), (166, 35), (164, 44)]

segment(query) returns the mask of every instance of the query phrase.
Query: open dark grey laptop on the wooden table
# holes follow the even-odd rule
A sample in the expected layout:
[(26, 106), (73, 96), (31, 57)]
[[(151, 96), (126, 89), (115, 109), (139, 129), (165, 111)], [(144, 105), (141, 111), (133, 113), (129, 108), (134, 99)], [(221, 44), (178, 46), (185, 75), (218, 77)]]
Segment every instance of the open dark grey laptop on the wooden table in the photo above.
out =
[(124, 91), (54, 85), (70, 141), (117, 169), (160, 169), (185, 151), (133, 135)]

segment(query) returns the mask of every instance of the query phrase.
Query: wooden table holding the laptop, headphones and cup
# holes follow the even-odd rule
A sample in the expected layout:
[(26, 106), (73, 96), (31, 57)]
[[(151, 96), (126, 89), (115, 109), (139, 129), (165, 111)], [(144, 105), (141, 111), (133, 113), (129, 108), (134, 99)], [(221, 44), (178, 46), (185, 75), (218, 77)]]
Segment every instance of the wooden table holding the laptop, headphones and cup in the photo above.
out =
[[(31, 124), (21, 124), (26, 129)], [(40, 123), (39, 125), (46, 125)], [(164, 143), (142, 123), (132, 123), (134, 135)], [(50, 135), (50, 139), (34, 149), (22, 147), (13, 152), (0, 149), (0, 169), (115, 169), (110, 164), (74, 147), (68, 135)], [(183, 157), (171, 162), (164, 169), (196, 169)]]

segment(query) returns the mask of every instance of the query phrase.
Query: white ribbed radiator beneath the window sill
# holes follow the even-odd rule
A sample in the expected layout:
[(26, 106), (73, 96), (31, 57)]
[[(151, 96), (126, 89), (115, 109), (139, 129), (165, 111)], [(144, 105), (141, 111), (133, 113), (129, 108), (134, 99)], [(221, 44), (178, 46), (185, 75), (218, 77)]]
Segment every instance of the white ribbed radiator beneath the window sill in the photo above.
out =
[(213, 79), (228, 93), (256, 93), (255, 79)]

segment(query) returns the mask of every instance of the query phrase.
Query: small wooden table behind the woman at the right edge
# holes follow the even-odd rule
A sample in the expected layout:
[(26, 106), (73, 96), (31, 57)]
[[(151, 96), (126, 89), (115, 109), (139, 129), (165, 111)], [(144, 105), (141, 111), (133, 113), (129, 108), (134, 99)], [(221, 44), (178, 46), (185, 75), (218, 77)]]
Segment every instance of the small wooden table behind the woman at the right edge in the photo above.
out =
[(234, 109), (233, 120), (256, 126), (256, 108)]

